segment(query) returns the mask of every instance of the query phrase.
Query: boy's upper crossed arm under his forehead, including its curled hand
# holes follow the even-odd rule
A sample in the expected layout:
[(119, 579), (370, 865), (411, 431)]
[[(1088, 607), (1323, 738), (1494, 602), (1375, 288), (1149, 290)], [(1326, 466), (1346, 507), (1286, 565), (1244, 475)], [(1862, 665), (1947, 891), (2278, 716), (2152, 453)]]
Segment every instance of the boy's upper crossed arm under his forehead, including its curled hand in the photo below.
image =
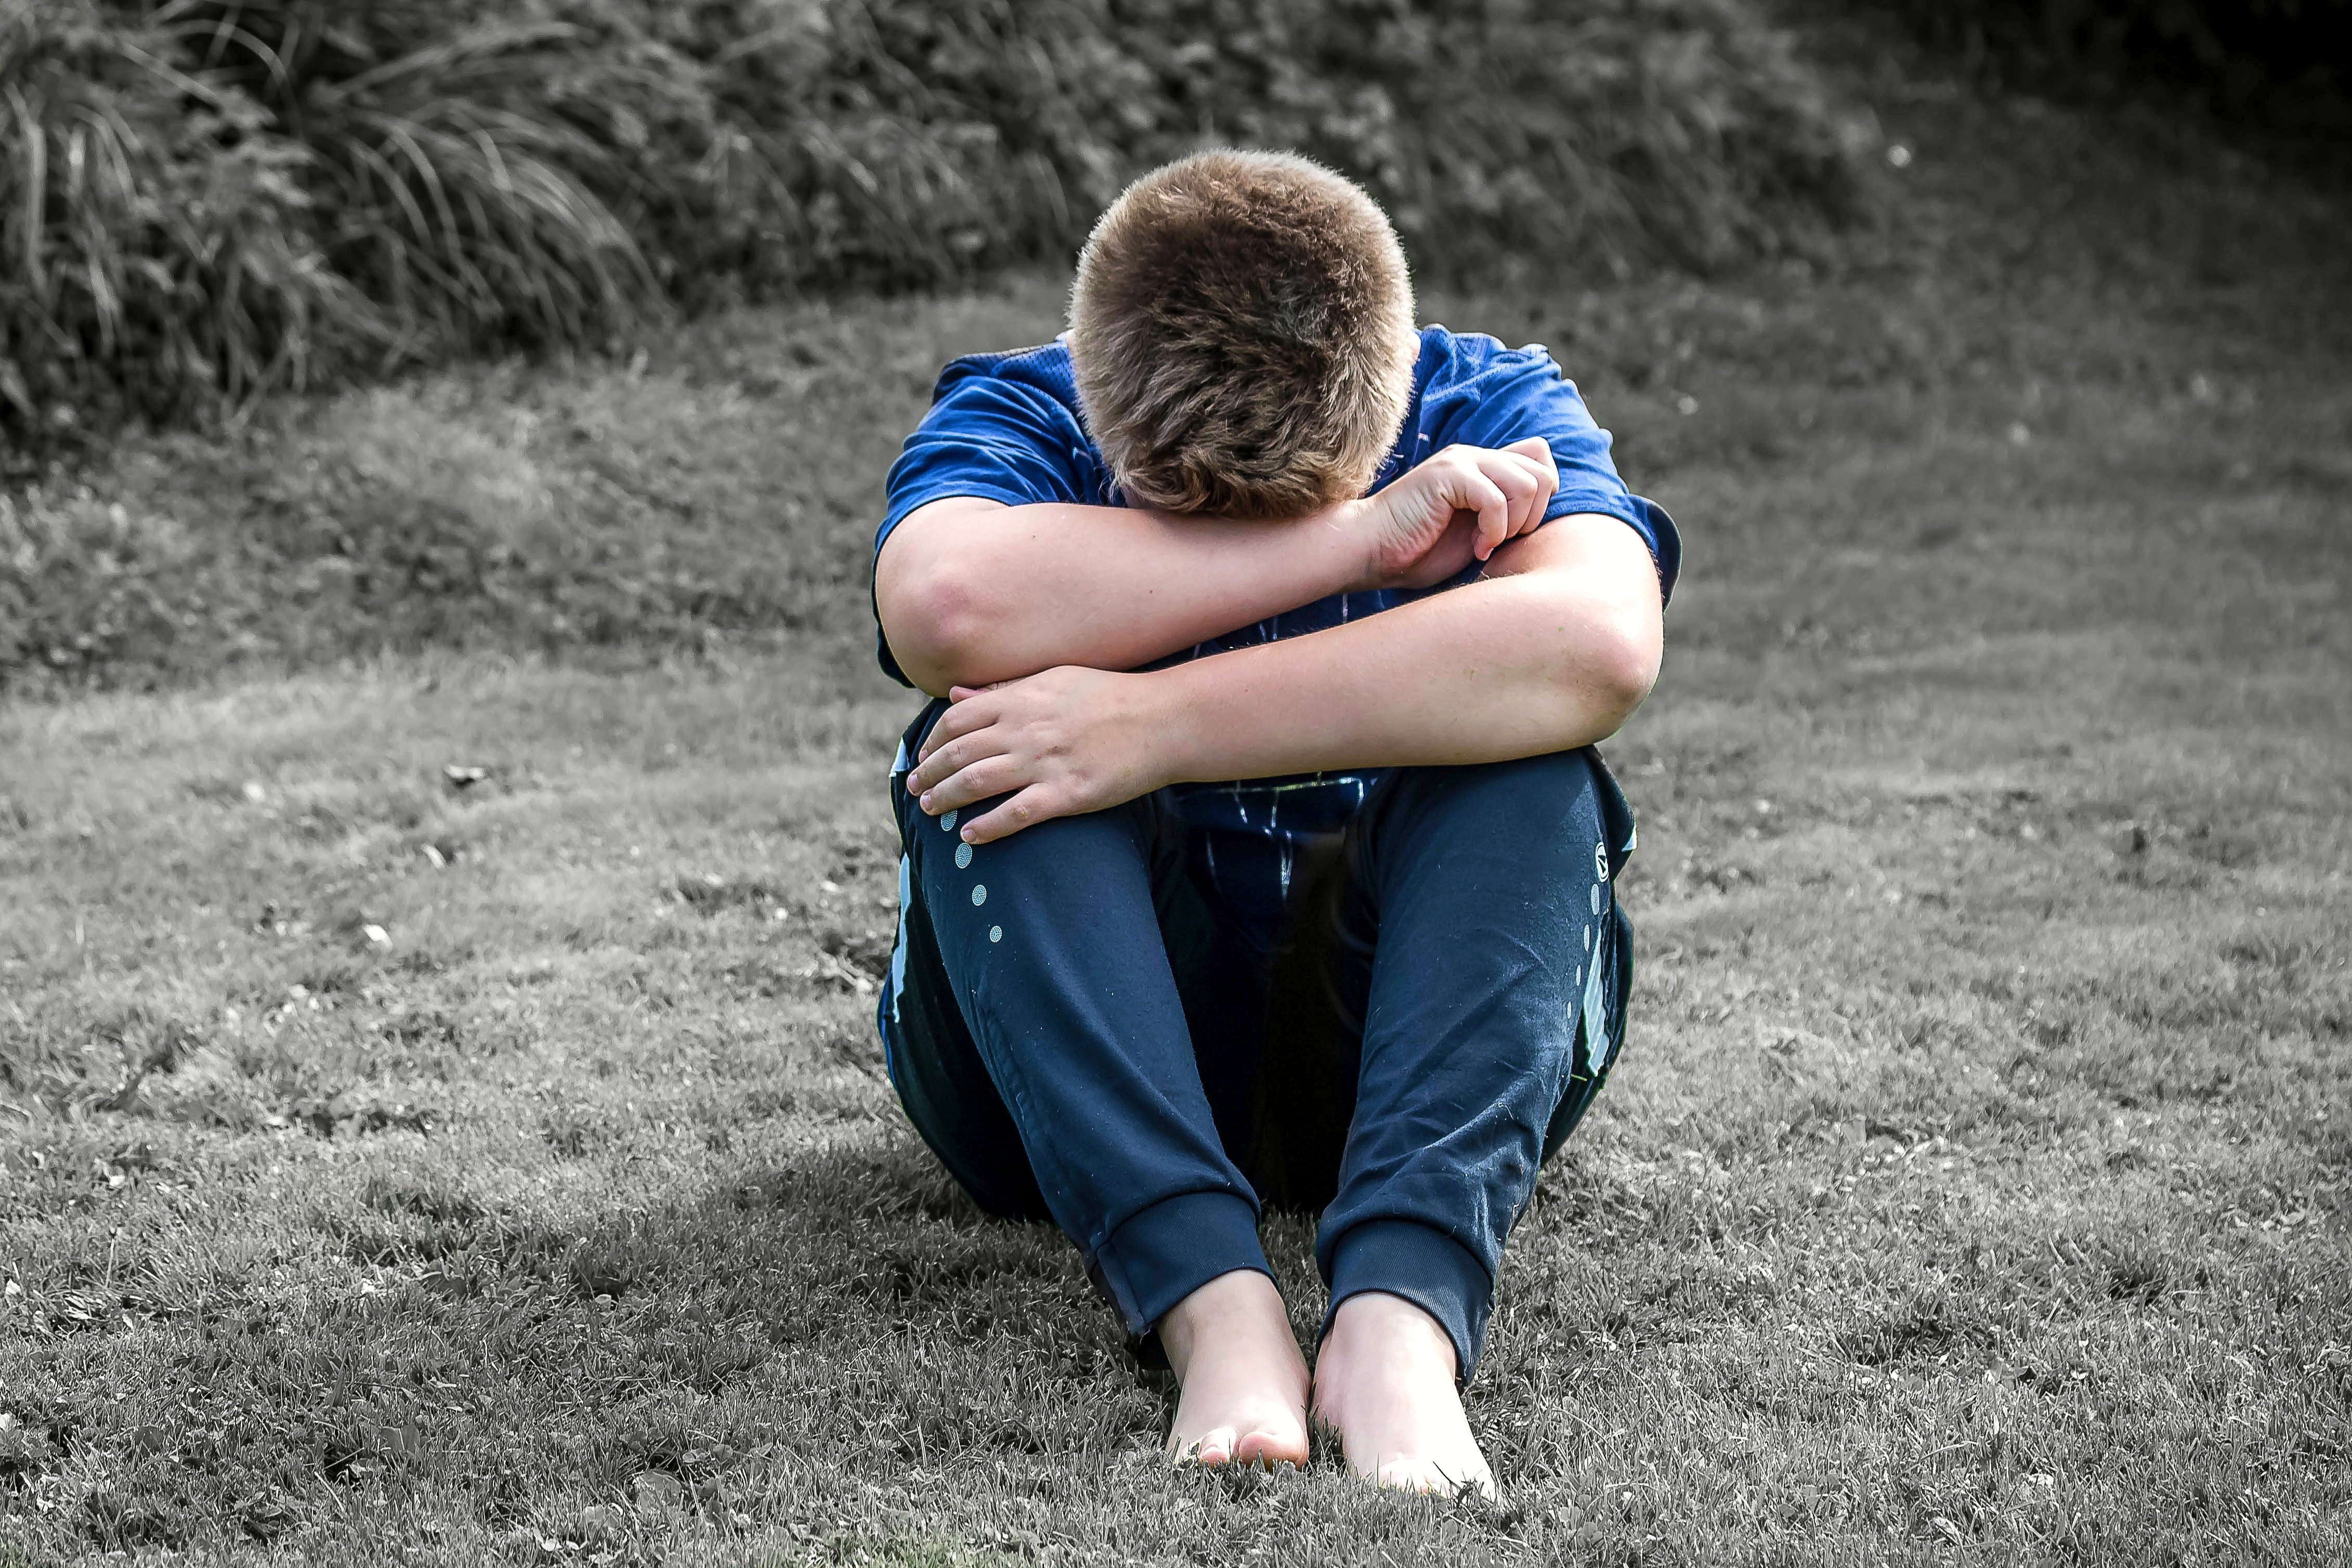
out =
[(1296, 522), (953, 496), (891, 529), (875, 609), (931, 696), (1054, 665), (1134, 670), (1324, 595), (1432, 588), (1536, 529), (1555, 487), (1538, 437), (1449, 447), (1378, 496)]

